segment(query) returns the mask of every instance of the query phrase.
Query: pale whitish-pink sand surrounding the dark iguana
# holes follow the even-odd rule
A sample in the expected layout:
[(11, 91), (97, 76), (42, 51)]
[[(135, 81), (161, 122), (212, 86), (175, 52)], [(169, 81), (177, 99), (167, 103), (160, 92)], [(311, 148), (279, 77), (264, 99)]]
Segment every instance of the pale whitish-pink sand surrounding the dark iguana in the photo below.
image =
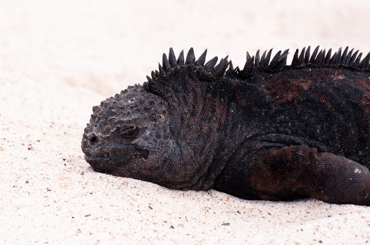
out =
[(367, 207), (168, 190), (92, 172), (80, 148), (92, 106), (170, 46), (235, 66), (258, 48), (367, 53), (369, 1), (104, 2), (0, 2), (1, 244), (370, 242)]

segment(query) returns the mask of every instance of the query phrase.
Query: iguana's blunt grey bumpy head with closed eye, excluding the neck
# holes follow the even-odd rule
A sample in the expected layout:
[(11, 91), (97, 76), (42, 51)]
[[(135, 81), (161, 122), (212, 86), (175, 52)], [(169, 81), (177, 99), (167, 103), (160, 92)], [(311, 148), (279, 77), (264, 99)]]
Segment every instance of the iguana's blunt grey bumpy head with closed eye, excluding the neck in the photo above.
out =
[(169, 152), (164, 100), (135, 85), (93, 107), (82, 140), (93, 170), (151, 181)]

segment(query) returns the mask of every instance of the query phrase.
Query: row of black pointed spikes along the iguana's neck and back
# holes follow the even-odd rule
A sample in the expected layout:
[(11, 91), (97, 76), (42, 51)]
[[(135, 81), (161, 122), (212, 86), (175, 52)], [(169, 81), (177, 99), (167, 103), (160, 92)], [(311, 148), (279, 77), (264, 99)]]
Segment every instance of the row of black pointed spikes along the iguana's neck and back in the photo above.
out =
[[(276, 55), (272, 58), (271, 62), (271, 53), (272, 48), (267, 52), (264, 51), (262, 56), (260, 56), (260, 50), (255, 53), (255, 56), (249, 55), (246, 52), (246, 63), (242, 70), (239, 67), (233, 68), (231, 61), (228, 62), (228, 56), (224, 59), (221, 59), (219, 64), (217, 64), (217, 57), (212, 58), (205, 63), (205, 56), (207, 50), (205, 50), (198, 60), (196, 60), (194, 55), (193, 48), (187, 52), (186, 60), (184, 59), (184, 53), (181, 51), (180, 55), (176, 60), (174, 50), (169, 48), (169, 57), (164, 53), (162, 56), (162, 65), (158, 64), (158, 71), (152, 71), (151, 77), (146, 76), (149, 83), (157, 79), (160, 75), (167, 75), (171, 72), (172, 69), (178, 66), (201, 66), (203, 70), (211, 75), (212, 78), (221, 78), (223, 75), (233, 75), (233, 76), (246, 76), (251, 75), (253, 71), (263, 71), (268, 73), (275, 73), (281, 71), (285, 68), (300, 69), (305, 67), (331, 67), (338, 68), (344, 67), (348, 69), (354, 69), (357, 71), (370, 71), (370, 52), (361, 60), (362, 53), (360, 51), (353, 52), (353, 48), (348, 52), (348, 46), (344, 48), (342, 53), (342, 48), (339, 48), (337, 52), (332, 55), (332, 49), (330, 48), (328, 52), (325, 49), (319, 49), (317, 46), (312, 55), (310, 55), (311, 47), (303, 48), (301, 53), (297, 49), (294, 53), (292, 64), (287, 66), (287, 55), (289, 49), (284, 52), (278, 51)], [(226, 69), (229, 67), (228, 71)]]

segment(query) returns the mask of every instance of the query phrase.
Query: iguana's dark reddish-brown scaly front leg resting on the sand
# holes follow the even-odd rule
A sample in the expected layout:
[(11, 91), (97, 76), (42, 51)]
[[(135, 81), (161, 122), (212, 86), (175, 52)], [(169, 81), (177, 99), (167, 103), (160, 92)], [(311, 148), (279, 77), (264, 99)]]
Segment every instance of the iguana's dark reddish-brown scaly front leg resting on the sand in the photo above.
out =
[(370, 206), (370, 173), (348, 158), (305, 145), (269, 150), (251, 164), (251, 187), (262, 199), (310, 196)]

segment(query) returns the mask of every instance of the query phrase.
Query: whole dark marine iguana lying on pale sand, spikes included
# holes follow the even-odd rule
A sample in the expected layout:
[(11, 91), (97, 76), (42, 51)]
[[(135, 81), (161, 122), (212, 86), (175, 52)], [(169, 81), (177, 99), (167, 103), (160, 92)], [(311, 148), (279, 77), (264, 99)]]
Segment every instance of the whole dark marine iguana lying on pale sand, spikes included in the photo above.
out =
[[(288, 50), (205, 63), (163, 54), (143, 85), (92, 108), (93, 170), (243, 199), (370, 206), (370, 53)], [(217, 65), (216, 65), (217, 64)]]

